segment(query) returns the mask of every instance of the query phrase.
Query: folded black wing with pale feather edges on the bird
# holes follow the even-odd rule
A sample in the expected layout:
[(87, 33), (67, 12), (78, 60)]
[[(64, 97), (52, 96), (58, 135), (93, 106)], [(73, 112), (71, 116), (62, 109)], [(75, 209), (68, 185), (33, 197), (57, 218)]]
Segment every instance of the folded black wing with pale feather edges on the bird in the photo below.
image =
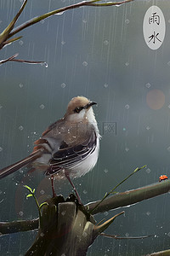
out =
[(70, 169), (92, 154), (97, 145), (97, 136), (94, 127), (91, 128), (84, 140), (77, 144), (77, 141), (71, 146), (65, 141), (60, 143), (59, 150), (53, 154), (50, 160), (51, 168), (48, 169), (46, 175), (52, 175), (61, 169)]

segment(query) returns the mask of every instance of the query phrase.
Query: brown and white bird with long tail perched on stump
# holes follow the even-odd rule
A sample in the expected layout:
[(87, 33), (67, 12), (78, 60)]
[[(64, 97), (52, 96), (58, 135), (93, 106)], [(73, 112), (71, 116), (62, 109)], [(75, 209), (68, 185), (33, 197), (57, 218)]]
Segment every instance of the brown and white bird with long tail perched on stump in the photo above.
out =
[(72, 179), (92, 170), (99, 157), (99, 128), (92, 108), (96, 104), (84, 96), (72, 98), (64, 117), (48, 126), (34, 143), (33, 152), (0, 170), (0, 179), (31, 166), (51, 177), (53, 196), (54, 178), (66, 177), (82, 204)]

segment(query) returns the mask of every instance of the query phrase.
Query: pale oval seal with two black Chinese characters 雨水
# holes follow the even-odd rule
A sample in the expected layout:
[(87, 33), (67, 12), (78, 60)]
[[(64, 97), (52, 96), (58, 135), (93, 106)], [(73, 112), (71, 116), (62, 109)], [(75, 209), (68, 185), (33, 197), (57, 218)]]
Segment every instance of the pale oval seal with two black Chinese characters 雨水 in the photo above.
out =
[(144, 15), (143, 32), (145, 43), (150, 49), (160, 48), (165, 38), (165, 19), (159, 7), (150, 6)]

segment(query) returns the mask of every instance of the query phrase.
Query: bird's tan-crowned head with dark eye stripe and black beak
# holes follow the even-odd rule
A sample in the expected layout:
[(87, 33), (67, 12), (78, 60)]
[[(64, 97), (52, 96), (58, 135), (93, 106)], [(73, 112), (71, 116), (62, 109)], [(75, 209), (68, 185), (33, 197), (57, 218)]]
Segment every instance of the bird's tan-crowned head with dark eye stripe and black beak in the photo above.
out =
[(84, 96), (74, 97), (68, 104), (65, 118), (71, 121), (82, 121), (84, 118), (87, 118), (89, 121), (92, 119), (93, 121), (94, 112), (92, 106), (95, 104), (97, 103), (89, 101)]

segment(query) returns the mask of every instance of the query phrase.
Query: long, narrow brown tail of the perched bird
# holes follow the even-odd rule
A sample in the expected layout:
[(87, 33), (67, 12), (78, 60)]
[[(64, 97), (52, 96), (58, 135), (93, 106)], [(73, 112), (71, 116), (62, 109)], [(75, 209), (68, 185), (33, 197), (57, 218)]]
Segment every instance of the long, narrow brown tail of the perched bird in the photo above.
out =
[(7, 167), (1, 169), (0, 170), (0, 179), (3, 178), (3, 177), (8, 176), (9, 174), (11, 174), (13, 172), (16, 172), (21, 167), (27, 166), (29, 163), (31, 163), (32, 161), (34, 161), (38, 157), (40, 157), (42, 155), (42, 152), (43, 152), (42, 148), (37, 149), (36, 151), (31, 153), (29, 156), (27, 156), (23, 160), (20, 160), (20, 161), (14, 163), (11, 166), (7, 166)]

